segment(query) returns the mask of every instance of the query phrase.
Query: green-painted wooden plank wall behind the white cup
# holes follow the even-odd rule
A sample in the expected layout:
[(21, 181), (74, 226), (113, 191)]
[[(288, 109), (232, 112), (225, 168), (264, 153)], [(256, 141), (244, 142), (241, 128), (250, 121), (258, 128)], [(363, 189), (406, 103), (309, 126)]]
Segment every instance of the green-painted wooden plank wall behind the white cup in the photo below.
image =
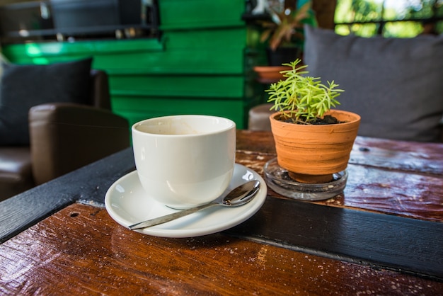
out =
[(110, 76), (113, 111), (135, 123), (171, 114), (219, 115), (246, 128), (262, 89), (251, 74), (255, 33), (241, 0), (159, 0), (161, 38), (4, 45), (11, 62), (93, 56)]

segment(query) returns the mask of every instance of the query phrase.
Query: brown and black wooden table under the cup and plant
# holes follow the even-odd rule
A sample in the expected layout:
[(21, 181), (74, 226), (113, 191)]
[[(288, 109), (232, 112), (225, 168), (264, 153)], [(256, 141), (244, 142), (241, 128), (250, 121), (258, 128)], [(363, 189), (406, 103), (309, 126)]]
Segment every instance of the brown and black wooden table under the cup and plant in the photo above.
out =
[[(0, 203), (0, 295), (442, 295), (443, 144), (358, 137), (343, 194), (268, 190), (251, 219), (188, 239), (110, 218), (106, 190), (131, 149)], [(263, 174), (269, 132), (238, 131), (236, 161)]]

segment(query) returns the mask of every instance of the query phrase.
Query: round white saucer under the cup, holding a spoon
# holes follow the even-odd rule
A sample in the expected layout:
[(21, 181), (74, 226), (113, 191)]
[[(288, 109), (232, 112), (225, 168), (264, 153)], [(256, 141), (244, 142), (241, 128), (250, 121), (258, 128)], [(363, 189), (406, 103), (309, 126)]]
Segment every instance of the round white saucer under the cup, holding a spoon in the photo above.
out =
[[(235, 164), (234, 175), (224, 194), (250, 180), (260, 181), (260, 190), (246, 205), (211, 207), (178, 220), (136, 231), (156, 237), (198, 237), (234, 227), (260, 210), (267, 194), (266, 183), (258, 173), (241, 164)], [(149, 198), (139, 182), (137, 171), (122, 176), (110, 186), (105, 195), (105, 207), (110, 217), (124, 227), (171, 212), (178, 212)]]

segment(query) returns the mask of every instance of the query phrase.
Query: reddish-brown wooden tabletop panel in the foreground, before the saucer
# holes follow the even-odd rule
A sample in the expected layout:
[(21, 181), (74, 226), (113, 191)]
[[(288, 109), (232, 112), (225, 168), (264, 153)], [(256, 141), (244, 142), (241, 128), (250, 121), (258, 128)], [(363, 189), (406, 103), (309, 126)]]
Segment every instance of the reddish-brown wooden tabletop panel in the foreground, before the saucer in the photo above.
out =
[(131, 232), (74, 204), (0, 245), (1, 295), (439, 295), (443, 283), (212, 234)]

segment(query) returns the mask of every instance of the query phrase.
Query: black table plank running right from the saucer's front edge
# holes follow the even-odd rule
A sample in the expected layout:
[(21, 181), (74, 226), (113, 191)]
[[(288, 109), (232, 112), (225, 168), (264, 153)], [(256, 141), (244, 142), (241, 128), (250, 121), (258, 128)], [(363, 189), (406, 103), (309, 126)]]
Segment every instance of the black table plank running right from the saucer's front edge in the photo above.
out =
[(443, 280), (443, 223), (267, 198), (237, 237)]

